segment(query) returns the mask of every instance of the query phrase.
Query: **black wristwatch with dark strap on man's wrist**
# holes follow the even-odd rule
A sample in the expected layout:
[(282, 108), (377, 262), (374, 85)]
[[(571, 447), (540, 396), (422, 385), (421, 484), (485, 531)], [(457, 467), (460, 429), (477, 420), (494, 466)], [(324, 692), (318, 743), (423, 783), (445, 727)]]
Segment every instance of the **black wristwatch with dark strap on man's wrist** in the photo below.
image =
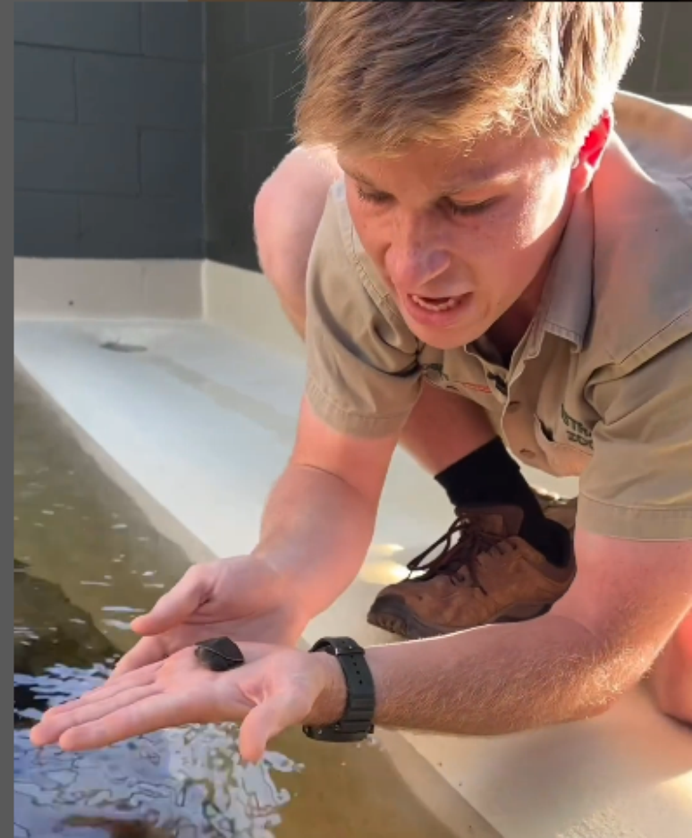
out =
[(310, 739), (322, 742), (360, 742), (373, 732), (375, 682), (366, 662), (365, 649), (350, 638), (322, 638), (310, 652), (333, 655), (342, 666), (346, 679), (346, 711), (335, 724), (319, 727), (304, 725)]

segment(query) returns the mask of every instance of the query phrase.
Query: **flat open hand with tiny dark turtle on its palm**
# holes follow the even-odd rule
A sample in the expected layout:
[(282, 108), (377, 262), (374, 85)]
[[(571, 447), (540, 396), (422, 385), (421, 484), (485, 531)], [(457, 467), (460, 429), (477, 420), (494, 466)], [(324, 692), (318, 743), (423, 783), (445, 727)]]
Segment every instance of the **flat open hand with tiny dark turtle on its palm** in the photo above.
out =
[(267, 742), (291, 725), (329, 724), (342, 715), (346, 689), (333, 656), (258, 643), (241, 650), (246, 664), (229, 672), (210, 672), (194, 648), (184, 648), (123, 674), (46, 711), (31, 741), (92, 750), (167, 727), (239, 722), (241, 756), (257, 762)]

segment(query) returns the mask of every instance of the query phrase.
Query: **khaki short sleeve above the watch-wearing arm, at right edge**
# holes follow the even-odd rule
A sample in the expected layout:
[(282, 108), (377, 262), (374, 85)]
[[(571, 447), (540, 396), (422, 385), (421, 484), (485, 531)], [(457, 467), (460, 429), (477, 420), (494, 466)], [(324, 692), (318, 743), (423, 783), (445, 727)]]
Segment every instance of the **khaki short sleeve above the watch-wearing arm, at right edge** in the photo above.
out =
[(692, 336), (595, 384), (594, 456), (578, 527), (643, 541), (692, 538)]

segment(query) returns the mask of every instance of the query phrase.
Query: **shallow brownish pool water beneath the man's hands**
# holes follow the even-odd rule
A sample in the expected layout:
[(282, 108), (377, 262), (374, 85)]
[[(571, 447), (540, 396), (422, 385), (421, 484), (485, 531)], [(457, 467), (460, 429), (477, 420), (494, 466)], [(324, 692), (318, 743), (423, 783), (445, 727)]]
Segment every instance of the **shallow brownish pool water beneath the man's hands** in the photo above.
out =
[[(234, 725), (85, 754), (35, 749), (46, 707), (103, 681), (188, 566), (23, 377), (14, 383), (14, 835), (351, 838), (452, 833), (376, 745), (291, 732), (259, 766)], [(469, 834), (460, 824), (460, 834)]]

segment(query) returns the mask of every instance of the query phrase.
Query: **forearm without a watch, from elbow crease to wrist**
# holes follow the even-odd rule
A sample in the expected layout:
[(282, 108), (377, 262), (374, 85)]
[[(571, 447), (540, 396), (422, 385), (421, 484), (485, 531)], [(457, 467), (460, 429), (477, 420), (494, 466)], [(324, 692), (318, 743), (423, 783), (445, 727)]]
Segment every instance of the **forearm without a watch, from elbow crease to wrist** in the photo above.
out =
[(281, 573), (309, 620), (356, 578), (375, 520), (376, 506), (344, 480), (291, 464), (269, 495), (253, 553)]

